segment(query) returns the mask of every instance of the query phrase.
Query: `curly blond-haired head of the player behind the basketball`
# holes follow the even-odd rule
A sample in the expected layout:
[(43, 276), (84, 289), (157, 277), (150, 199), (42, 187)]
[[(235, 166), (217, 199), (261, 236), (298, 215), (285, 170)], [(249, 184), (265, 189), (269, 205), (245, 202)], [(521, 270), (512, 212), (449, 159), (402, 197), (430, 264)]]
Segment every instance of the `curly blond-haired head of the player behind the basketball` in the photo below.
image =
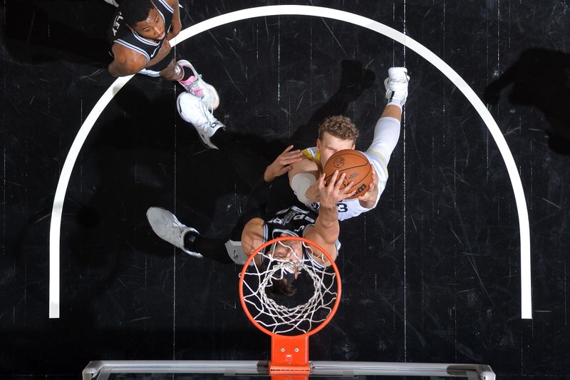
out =
[(358, 128), (345, 116), (337, 115), (326, 118), (318, 127), (316, 148), (321, 153), (321, 164), (325, 164), (331, 155), (343, 149), (354, 149), (358, 138)]

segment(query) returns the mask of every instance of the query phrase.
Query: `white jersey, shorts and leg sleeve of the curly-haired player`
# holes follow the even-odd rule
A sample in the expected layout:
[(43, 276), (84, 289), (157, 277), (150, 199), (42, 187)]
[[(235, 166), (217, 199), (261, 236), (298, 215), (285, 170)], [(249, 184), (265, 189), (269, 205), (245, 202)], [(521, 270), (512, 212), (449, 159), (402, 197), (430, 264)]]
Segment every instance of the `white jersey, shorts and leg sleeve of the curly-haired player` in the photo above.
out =
[[(380, 118), (376, 123), (374, 130), (374, 140), (365, 152), (368, 161), (373, 165), (376, 175), (378, 175), (378, 197), (373, 207), (362, 207), (358, 199), (347, 199), (336, 204), (338, 210), (338, 220), (346, 220), (351, 217), (361, 215), (361, 213), (372, 210), (378, 204), (380, 195), (388, 182), (388, 161), (390, 155), (398, 143), (400, 137), (400, 121), (395, 118)], [(320, 153), (316, 147), (306, 148), (303, 150), (304, 155), (310, 160), (318, 162)], [(309, 205), (311, 209), (318, 210), (318, 202)]]

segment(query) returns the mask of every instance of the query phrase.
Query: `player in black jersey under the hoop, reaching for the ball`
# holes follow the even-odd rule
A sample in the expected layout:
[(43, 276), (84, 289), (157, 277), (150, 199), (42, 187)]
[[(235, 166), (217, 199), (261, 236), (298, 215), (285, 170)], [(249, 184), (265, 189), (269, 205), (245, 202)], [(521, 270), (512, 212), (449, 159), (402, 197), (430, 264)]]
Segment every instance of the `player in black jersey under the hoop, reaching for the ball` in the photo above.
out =
[[(336, 172), (330, 182), (325, 185), (324, 175), (318, 180), (321, 191), (321, 209), (319, 213), (304, 207), (304, 205), (290, 205), (284, 210), (269, 212), (268, 203), (278, 197), (271, 196), (271, 182), (284, 173), (287, 173), (291, 163), (300, 159), (299, 150), (292, 150), (290, 145), (281, 155), (269, 165), (263, 178), (254, 186), (249, 195), (247, 210), (242, 222), (234, 229), (234, 239), (207, 239), (201, 237), (192, 227), (182, 224), (172, 212), (160, 207), (150, 207), (147, 210), (147, 219), (152, 230), (162, 239), (179, 247), (188, 255), (194, 257), (207, 257), (217, 262), (236, 263), (243, 265), (248, 255), (265, 242), (274, 237), (297, 236), (306, 237), (317, 245), (323, 247), (329, 255), (336, 260), (338, 255), (338, 211), (336, 204), (346, 197), (354, 194), (341, 190), (345, 175)], [(286, 183), (284, 184), (286, 187)], [(349, 184), (345, 189), (351, 188)], [(290, 249), (276, 248), (274, 255), (281, 255), (282, 259), (290, 260), (293, 264), (309, 255), (309, 259), (316, 265), (328, 267), (331, 262), (320, 255), (306, 252), (294, 240), (285, 240), (284, 246)], [(225, 247), (224, 247), (225, 246)], [(295, 273), (296, 277), (296, 273)], [(279, 281), (274, 289), (275, 294), (291, 295), (290, 279)], [(283, 284), (285, 282), (285, 284)]]

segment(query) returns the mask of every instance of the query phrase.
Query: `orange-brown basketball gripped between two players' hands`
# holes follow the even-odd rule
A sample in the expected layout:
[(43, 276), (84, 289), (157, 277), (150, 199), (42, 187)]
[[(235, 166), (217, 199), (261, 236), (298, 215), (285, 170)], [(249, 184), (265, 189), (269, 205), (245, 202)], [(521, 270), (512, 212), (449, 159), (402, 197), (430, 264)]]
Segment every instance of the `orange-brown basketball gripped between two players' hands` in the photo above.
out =
[(353, 199), (364, 195), (370, 183), (372, 182), (372, 165), (368, 162), (366, 155), (353, 149), (338, 150), (338, 152), (331, 155), (325, 163), (323, 169), (325, 173), (325, 183), (331, 179), (334, 171), (338, 170), (338, 175), (346, 174), (341, 188), (345, 188), (351, 181), (354, 183), (351, 190), (356, 190), (356, 193), (347, 199)]

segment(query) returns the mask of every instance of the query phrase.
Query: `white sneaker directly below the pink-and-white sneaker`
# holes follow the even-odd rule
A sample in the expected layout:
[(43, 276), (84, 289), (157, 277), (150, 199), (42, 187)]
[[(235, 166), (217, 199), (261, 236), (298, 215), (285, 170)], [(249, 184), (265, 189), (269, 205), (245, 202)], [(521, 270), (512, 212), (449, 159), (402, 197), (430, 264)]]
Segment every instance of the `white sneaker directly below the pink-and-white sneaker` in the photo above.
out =
[(190, 93), (181, 93), (176, 101), (178, 113), (188, 123), (194, 125), (202, 143), (208, 148), (217, 149), (217, 146), (212, 144), (210, 138), (216, 133), (219, 128), (226, 128), (220, 123), (217, 118), (206, 108), (204, 102), (191, 95)]

